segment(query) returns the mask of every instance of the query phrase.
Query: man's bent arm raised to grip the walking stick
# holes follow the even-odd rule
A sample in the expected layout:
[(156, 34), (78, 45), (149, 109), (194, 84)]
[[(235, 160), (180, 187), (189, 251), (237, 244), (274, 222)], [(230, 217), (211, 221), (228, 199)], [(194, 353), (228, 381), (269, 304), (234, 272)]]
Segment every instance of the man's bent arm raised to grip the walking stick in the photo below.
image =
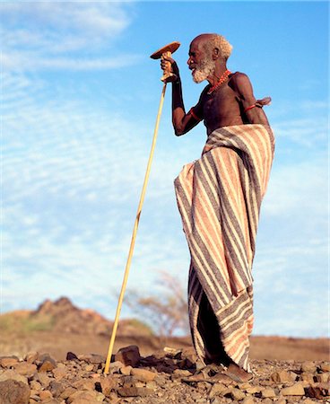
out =
[(195, 127), (203, 118), (199, 118), (193, 109), (186, 113), (178, 65), (171, 57), (168, 57), (161, 60), (161, 68), (163, 70), (168, 68), (168, 63), (170, 63), (170, 71), (177, 75), (177, 80), (172, 83), (172, 124), (176, 136), (181, 136)]

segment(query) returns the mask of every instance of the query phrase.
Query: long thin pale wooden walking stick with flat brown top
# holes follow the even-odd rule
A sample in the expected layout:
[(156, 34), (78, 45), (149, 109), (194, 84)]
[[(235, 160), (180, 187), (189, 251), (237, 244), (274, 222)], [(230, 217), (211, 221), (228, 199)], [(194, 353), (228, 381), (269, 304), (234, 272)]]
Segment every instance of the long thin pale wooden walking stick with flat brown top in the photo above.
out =
[[(179, 46), (180, 46), (179, 42), (171, 42), (171, 43), (169, 43), (169, 45), (166, 45), (165, 47), (163, 47), (163, 48), (157, 50), (156, 52), (152, 53), (151, 57), (152, 57), (152, 59), (159, 59), (161, 57), (170, 57), (171, 53), (175, 52), (178, 49)], [(169, 72), (169, 70), (164, 71), (164, 75), (161, 77), (161, 81), (164, 83), (164, 85), (162, 87), (162, 91), (161, 91), (161, 102), (160, 102), (160, 106), (159, 106), (159, 109), (158, 109), (156, 125), (155, 125), (154, 131), (153, 131), (152, 149), (151, 149), (151, 152), (150, 152), (150, 155), (149, 155), (147, 169), (146, 169), (146, 172), (145, 172), (145, 175), (144, 175), (143, 189), (142, 189), (142, 192), (141, 192), (139, 206), (137, 207), (137, 213), (136, 213), (136, 217), (135, 217), (135, 224), (134, 224), (133, 233), (132, 233), (131, 245), (130, 245), (130, 248), (129, 248), (128, 258), (127, 258), (127, 261), (126, 261), (126, 269), (125, 269), (123, 284), (121, 286), (121, 291), (120, 291), (119, 299), (118, 299), (118, 303), (117, 303), (116, 317), (115, 317), (115, 321), (114, 321), (114, 325), (113, 325), (113, 329), (112, 329), (112, 335), (111, 335), (111, 338), (110, 338), (107, 361), (106, 361), (106, 365), (105, 365), (105, 368), (104, 368), (104, 373), (105, 374), (109, 373), (109, 365), (110, 365), (110, 361), (111, 361), (113, 346), (114, 346), (114, 343), (115, 343), (117, 327), (118, 327), (118, 321), (119, 321), (119, 315), (120, 315), (120, 311), (121, 311), (121, 306), (123, 304), (124, 294), (125, 294), (125, 290), (126, 290), (126, 284), (127, 284), (127, 280), (128, 280), (129, 268), (131, 266), (131, 260), (132, 260), (133, 251), (134, 251), (134, 248), (135, 248), (135, 238), (136, 238), (137, 228), (138, 228), (139, 221), (140, 221), (140, 216), (141, 216), (141, 212), (142, 212), (142, 206), (143, 206), (145, 190), (147, 188), (147, 183), (148, 183), (148, 180), (149, 180), (149, 174), (150, 174), (150, 170), (151, 170), (151, 166), (152, 166), (152, 157), (153, 157), (153, 153), (154, 153), (154, 149), (155, 149), (155, 145), (156, 145), (158, 127), (160, 125), (160, 120), (161, 120), (161, 110), (162, 110), (162, 105), (163, 105), (164, 98), (165, 98), (166, 84), (169, 83), (169, 82), (173, 82), (176, 79), (177, 79), (177, 76), (174, 75), (173, 73)]]

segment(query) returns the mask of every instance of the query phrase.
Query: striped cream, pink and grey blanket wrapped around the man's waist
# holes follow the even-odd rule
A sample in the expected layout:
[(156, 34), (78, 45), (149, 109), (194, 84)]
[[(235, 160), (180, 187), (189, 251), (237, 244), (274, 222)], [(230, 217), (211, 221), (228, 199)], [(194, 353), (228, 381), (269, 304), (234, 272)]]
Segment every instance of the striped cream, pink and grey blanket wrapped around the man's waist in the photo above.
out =
[(249, 371), (251, 268), (273, 156), (270, 127), (221, 127), (208, 136), (202, 157), (185, 165), (175, 180), (191, 255), (190, 328), (204, 364), (213, 362), (216, 351), (222, 350)]

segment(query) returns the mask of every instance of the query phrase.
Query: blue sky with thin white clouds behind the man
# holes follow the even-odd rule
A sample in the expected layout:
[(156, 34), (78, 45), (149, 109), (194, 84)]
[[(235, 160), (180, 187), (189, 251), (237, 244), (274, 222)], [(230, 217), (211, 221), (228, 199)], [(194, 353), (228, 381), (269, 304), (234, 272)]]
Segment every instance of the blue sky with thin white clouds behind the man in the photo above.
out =
[[(149, 56), (173, 40), (186, 108), (203, 84), (189, 43), (218, 32), (246, 73), (276, 151), (262, 206), (255, 334), (328, 334), (327, 2), (2, 2), (2, 311), (66, 295), (113, 318), (161, 97)], [(187, 283), (173, 180), (205, 128), (176, 137), (170, 85), (127, 293)], [(124, 305), (122, 317), (131, 315)]]

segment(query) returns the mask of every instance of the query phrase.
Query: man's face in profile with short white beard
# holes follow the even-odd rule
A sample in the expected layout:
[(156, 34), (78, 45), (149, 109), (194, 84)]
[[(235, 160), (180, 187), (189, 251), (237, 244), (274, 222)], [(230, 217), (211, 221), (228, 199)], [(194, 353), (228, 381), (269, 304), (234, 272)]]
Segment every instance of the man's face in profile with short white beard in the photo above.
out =
[(212, 57), (208, 57), (204, 49), (197, 40), (194, 40), (189, 48), (189, 58), (187, 60), (189, 69), (193, 71), (193, 80), (195, 83), (201, 83), (215, 70), (215, 62)]

